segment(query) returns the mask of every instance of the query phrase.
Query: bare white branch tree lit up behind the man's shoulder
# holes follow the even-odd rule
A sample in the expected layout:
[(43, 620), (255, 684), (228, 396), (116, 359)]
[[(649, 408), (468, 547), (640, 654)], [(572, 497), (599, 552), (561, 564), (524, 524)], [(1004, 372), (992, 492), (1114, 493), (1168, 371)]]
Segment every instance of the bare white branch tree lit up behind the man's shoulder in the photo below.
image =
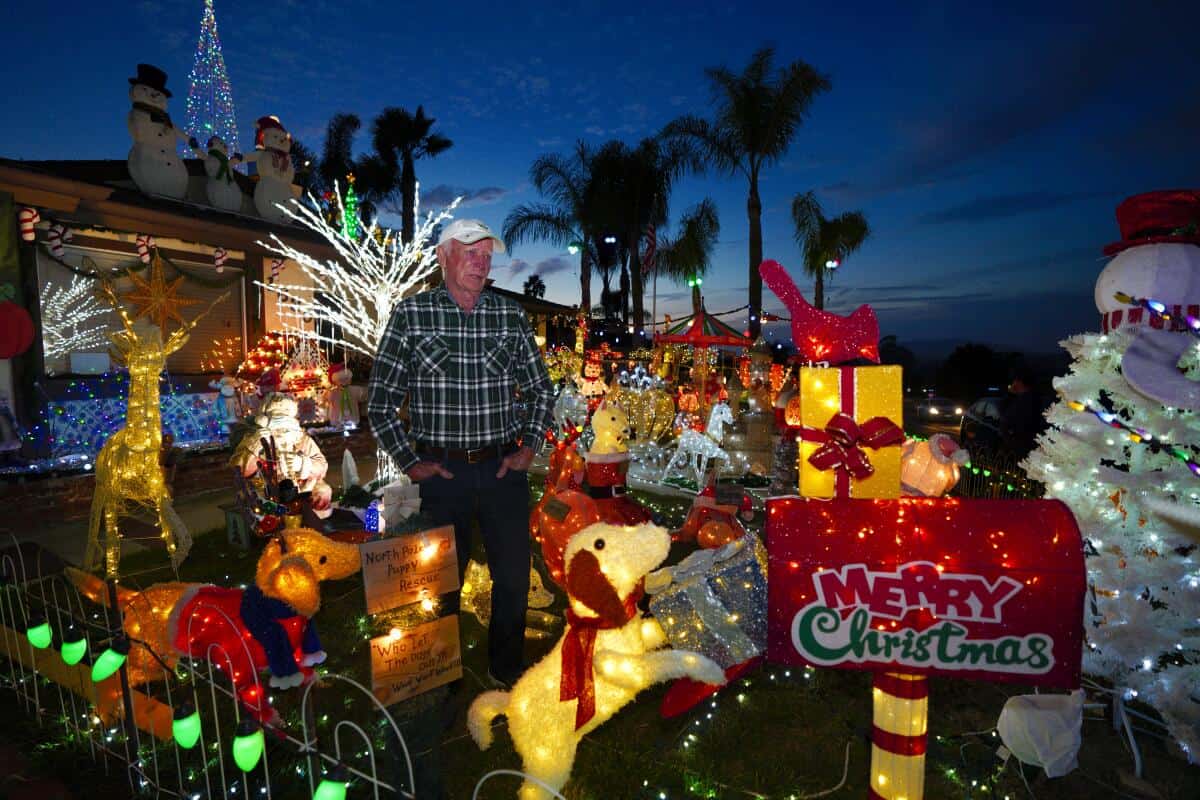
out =
[[(341, 207), (342, 196), (336, 187), (335, 194)], [(276, 296), (283, 330), (289, 335), (346, 347), (373, 359), (392, 308), (420, 290), (437, 271), (433, 230), (451, 217), (462, 198), (438, 213), (426, 215), (407, 245), (398, 231), (380, 229), (376, 223), (359, 239), (349, 239), (342, 234), (341, 224), (328, 222), (316, 210), (316, 199), (311, 196), (310, 199), (311, 205), (295, 203), (280, 207), (300, 225), (319, 234), (337, 258), (316, 259), (271, 234), (271, 241), (258, 243), (299, 265), (311, 285), (263, 282), (258, 285)], [(336, 216), (340, 221), (341, 215)], [(380, 450), (377, 456), (377, 477), (395, 476), (386, 453)]]

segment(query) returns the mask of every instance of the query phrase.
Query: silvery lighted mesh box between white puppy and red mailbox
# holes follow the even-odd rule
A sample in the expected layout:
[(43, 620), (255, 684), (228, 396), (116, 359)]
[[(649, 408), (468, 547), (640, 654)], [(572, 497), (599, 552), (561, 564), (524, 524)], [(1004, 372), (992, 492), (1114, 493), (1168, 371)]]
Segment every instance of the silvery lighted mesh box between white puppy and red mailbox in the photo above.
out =
[[(647, 581), (650, 613), (671, 646), (701, 652), (722, 668), (767, 646), (767, 551), (754, 534), (696, 551)], [(670, 578), (667, 584), (662, 578)]]

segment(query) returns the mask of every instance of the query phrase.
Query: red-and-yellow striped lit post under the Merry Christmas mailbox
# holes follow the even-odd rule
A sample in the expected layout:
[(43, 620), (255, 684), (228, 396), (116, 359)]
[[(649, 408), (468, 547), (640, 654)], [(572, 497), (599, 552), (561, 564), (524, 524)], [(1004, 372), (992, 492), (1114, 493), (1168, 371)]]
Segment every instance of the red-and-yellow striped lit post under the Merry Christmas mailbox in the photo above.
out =
[(877, 672), (872, 679), (870, 800), (920, 800), (925, 792), (929, 680)]

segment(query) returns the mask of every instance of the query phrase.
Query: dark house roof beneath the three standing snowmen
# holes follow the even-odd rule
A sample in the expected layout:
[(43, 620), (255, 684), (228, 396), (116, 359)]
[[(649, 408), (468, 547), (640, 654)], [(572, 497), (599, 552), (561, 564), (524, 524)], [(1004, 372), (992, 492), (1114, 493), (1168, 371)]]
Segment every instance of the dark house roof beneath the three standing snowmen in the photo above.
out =
[[(185, 158), (190, 176), (203, 178), (204, 164)], [(253, 181), (240, 173), (234, 179), (246, 194)], [(125, 161), (18, 161), (0, 158), (0, 191), (16, 201), (49, 209), (65, 222), (115, 230), (145, 231), (187, 241), (266, 253), (257, 245), (275, 234), (306, 251), (334, 251), (319, 235), (299, 225), (222, 211), (211, 205), (144, 194), (133, 184)], [(317, 254), (317, 253), (314, 253)]]

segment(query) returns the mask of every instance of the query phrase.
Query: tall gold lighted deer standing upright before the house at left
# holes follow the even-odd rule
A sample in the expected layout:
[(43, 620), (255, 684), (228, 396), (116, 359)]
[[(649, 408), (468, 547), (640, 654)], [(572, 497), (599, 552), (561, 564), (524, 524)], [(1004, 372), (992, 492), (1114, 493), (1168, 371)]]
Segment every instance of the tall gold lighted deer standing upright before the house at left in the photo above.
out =
[(121, 560), (121, 531), (118, 523), (122, 516), (128, 515), (131, 506), (142, 506), (154, 512), (173, 566), (178, 566), (191, 548), (191, 535), (172, 505), (160, 462), (162, 416), (158, 408), (158, 375), (167, 365), (167, 357), (184, 347), (196, 324), (228, 294), (215, 300), (208, 309), (166, 341), (157, 325), (134, 324), (107, 284), (104, 295), (121, 319), (124, 330), (112, 338), (118, 357), (130, 371), (130, 393), (125, 427), (109, 437), (96, 456), (96, 492), (91, 500), (84, 567), (92, 571), (100, 567), (100, 529), (103, 524), (104, 572), (107, 577), (115, 578)]

